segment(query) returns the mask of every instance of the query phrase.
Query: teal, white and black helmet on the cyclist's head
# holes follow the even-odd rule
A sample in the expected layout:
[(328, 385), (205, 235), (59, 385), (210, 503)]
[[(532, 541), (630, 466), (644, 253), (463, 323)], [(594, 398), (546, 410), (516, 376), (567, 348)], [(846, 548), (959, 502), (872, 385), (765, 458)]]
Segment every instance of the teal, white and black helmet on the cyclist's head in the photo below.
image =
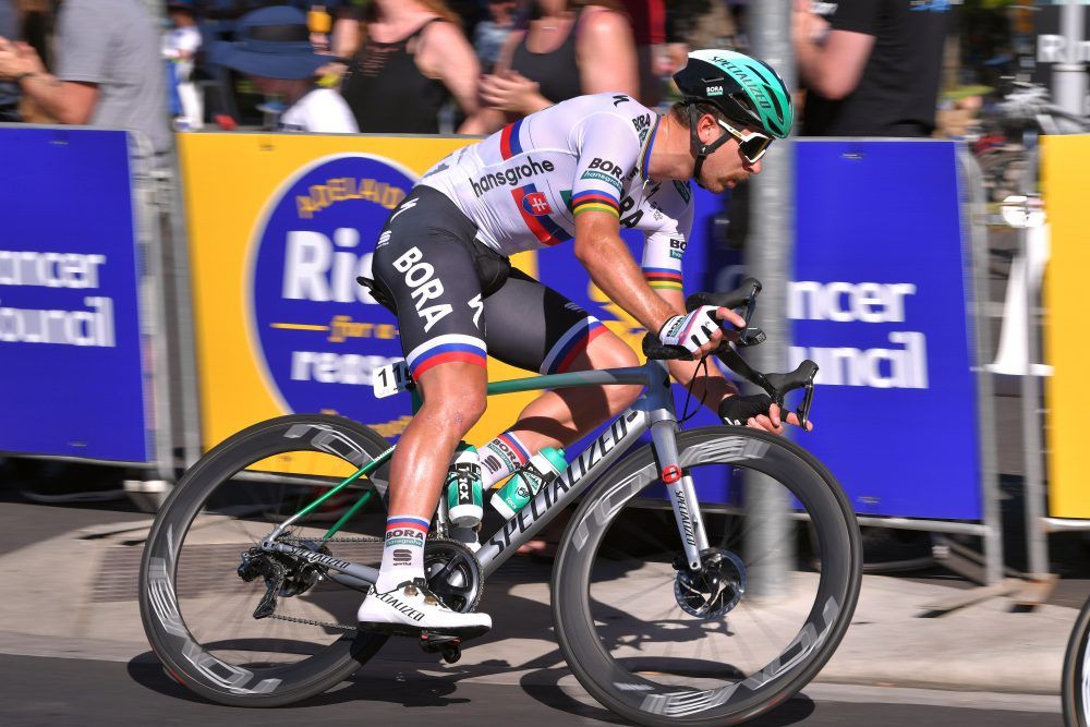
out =
[(732, 50), (697, 50), (674, 74), (688, 102), (710, 104), (736, 123), (785, 138), (795, 122), (787, 84), (755, 58)]

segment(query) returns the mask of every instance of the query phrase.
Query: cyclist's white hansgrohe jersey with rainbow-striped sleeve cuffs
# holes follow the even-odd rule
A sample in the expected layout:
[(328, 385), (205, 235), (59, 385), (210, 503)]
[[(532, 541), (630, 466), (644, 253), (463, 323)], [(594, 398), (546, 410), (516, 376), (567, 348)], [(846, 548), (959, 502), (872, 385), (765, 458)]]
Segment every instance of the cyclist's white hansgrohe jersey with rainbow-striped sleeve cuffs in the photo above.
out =
[(450, 154), (420, 183), (450, 198), (477, 240), (504, 255), (571, 240), (576, 215), (611, 211), (644, 232), (649, 283), (680, 290), (692, 193), (688, 182), (646, 175), (658, 123), (628, 96), (580, 96)]

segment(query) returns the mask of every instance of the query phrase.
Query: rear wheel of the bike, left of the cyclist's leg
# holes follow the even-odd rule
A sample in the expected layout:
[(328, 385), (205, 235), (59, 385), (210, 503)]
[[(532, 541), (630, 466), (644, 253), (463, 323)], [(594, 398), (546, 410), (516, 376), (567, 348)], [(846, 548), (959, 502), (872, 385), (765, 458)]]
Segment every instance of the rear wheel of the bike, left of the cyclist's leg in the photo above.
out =
[[(277, 706), (329, 689), (378, 651), (386, 637), (354, 628), (362, 593), (330, 583), (320, 566), (256, 546), (388, 447), (347, 419), (290, 415), (235, 434), (186, 472), (148, 535), (140, 583), (144, 630), (175, 679), (223, 704)], [(284, 537), (377, 568), (388, 469)], [(324, 541), (360, 498), (362, 508)]]

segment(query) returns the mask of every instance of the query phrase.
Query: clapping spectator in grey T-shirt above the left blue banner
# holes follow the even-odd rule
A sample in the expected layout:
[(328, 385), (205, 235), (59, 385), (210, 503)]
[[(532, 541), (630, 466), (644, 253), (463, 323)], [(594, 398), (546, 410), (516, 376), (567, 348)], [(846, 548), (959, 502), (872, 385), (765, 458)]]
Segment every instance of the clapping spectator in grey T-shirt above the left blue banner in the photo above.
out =
[(25, 43), (0, 38), (0, 78), (60, 123), (142, 132), (166, 167), (171, 148), (155, 24), (140, 0), (65, 0), (57, 19), (57, 74)]

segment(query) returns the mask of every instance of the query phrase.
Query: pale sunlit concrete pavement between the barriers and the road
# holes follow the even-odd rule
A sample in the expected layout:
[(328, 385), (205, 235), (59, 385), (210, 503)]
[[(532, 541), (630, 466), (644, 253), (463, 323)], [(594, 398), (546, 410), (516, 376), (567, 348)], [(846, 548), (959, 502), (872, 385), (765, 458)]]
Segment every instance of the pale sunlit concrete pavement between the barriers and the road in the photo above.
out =
[[(140, 546), (111, 534), (147, 516), (104, 508), (0, 502), (0, 654), (129, 663), (148, 651), (135, 602)], [(554, 683), (564, 669), (550, 629), (547, 565), (514, 558), (485, 590), (496, 626), (455, 665), (390, 644), (375, 661), (433, 668), (462, 682)], [(598, 586), (595, 586), (598, 587)], [(851, 628), (818, 683), (1056, 694), (1075, 608), (982, 599), (934, 617), (965, 593), (937, 579), (867, 575)], [(469, 674), (464, 674), (469, 670)]]

